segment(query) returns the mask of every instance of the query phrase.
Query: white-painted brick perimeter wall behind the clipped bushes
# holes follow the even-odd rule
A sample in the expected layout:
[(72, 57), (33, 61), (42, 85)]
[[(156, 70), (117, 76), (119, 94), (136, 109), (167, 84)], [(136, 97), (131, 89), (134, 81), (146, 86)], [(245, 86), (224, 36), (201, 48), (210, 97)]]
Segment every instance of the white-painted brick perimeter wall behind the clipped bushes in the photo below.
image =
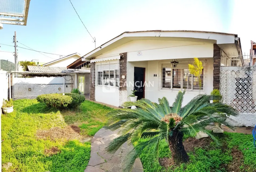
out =
[[(74, 79), (74, 76), (72, 78)], [(13, 99), (33, 99), (41, 94), (70, 93), (73, 86), (71, 76), (65, 76), (65, 79), (64, 87), (63, 77), (13, 78)], [(28, 91), (28, 88), (31, 88), (31, 91)]]

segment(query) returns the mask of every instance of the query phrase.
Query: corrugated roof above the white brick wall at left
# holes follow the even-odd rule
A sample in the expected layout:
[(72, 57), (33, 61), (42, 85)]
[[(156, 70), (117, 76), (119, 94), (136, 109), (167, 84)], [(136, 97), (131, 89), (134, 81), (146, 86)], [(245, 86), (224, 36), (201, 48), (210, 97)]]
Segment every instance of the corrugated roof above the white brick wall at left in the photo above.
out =
[(28, 66), (30, 72), (57, 72), (67, 73), (74, 72), (74, 69), (67, 69), (67, 67), (49, 67), (49, 66)]

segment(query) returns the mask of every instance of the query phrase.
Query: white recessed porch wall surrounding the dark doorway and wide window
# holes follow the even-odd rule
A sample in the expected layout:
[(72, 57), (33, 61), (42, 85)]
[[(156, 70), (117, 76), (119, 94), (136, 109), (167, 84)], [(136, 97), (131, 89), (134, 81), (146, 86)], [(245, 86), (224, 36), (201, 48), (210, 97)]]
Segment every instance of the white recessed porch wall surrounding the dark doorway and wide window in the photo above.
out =
[[(179, 61), (179, 59), (177, 59)], [(201, 61), (204, 61), (200, 59)], [(166, 97), (170, 104), (174, 102), (174, 99), (179, 92), (179, 89), (160, 89), (161, 82), (161, 76), (159, 75), (159, 63), (166, 63), (170, 61), (146, 61), (146, 62), (128, 62), (127, 65), (127, 84), (129, 81), (134, 80), (134, 67), (145, 67), (146, 68), (146, 74), (145, 74), (145, 81), (148, 85), (148, 87), (145, 84), (145, 98), (150, 99), (153, 102), (158, 102), (158, 98)], [(181, 61), (180, 61), (181, 62)], [(157, 77), (154, 77), (154, 74), (157, 75)], [(160, 77), (160, 78), (159, 78)], [(150, 85), (150, 83), (153, 84)], [(210, 94), (213, 90), (213, 58), (207, 58), (205, 67), (204, 67), (204, 90), (200, 90), (200, 94)], [(129, 84), (128, 84), (129, 85)], [(127, 85), (127, 94), (131, 94), (131, 89), (133, 89), (133, 86)], [(183, 105), (187, 104), (192, 98), (197, 96), (199, 94), (199, 90), (186, 90), (186, 93), (184, 95)], [(130, 99), (128, 98), (128, 101)]]

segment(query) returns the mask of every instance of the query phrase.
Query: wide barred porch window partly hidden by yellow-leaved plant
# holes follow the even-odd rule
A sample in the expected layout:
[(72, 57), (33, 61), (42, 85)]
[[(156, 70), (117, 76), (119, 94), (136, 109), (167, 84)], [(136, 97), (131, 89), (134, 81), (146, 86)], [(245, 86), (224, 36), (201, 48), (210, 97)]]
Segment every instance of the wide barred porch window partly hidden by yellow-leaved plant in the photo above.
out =
[[(180, 68), (174, 68), (170, 64), (162, 64), (161, 67), (161, 88), (162, 89), (188, 89), (199, 90), (199, 79), (190, 74), (187, 64)], [(204, 70), (200, 76), (201, 87), (204, 88)]]

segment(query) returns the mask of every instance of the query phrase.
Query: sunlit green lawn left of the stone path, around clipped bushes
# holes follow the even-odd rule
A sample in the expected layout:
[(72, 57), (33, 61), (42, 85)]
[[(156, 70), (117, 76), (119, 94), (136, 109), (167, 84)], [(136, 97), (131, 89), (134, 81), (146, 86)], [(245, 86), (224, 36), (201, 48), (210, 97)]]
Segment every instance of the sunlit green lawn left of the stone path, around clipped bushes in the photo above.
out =
[[(77, 135), (87, 138), (104, 125), (105, 114), (110, 110), (90, 101), (83, 102), (75, 110), (59, 111), (48, 109), (35, 99), (16, 100), (14, 112), (1, 116), (2, 164), (13, 164), (8, 171), (83, 172), (90, 159), (90, 142), (51, 137), (39, 139), (36, 133), (75, 125), (81, 129)], [(51, 150), (56, 152), (51, 153)]]

